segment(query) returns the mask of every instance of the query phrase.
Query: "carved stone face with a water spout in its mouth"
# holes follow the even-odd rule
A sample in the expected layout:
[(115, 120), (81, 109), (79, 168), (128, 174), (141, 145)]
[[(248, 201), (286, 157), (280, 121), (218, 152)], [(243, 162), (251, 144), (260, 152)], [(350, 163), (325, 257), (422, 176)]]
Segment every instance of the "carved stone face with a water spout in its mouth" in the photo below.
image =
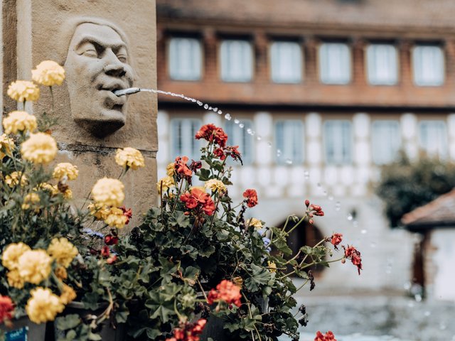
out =
[(127, 44), (113, 28), (82, 23), (75, 29), (65, 62), (73, 119), (102, 137), (124, 126), (127, 96), (113, 92), (132, 87)]

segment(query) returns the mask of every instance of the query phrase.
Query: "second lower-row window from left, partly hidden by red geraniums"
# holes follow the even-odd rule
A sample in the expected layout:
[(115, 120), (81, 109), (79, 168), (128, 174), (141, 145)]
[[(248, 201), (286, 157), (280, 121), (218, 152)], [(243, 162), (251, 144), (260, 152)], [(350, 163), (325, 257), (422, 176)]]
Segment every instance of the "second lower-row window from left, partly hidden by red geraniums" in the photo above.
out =
[[(225, 133), (229, 136), (228, 145), (239, 146), (238, 150), (242, 154), (243, 164), (252, 163), (253, 161), (253, 138), (248, 134), (248, 129), (252, 128), (252, 121), (241, 120), (240, 124), (244, 124), (243, 128), (240, 128), (239, 124), (235, 124), (233, 121), (226, 121)], [(232, 159), (231, 159), (232, 160)], [(231, 165), (237, 164), (236, 162)]]

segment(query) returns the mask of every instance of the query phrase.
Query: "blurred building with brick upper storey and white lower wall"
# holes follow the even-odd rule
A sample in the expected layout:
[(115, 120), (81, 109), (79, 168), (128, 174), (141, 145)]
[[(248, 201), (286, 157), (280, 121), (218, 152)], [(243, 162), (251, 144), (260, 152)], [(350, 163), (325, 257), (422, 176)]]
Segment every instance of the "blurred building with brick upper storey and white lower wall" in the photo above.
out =
[(321, 291), (402, 291), (414, 240), (387, 227), (380, 166), (401, 149), (455, 159), (455, 4), (398, 2), (157, 1), (159, 89), (201, 102), (159, 97), (159, 177), (223, 126), (245, 161), (230, 195), (256, 188), (252, 215), (279, 225), (309, 198), (319, 232), (362, 251), (361, 278), (336, 266)]

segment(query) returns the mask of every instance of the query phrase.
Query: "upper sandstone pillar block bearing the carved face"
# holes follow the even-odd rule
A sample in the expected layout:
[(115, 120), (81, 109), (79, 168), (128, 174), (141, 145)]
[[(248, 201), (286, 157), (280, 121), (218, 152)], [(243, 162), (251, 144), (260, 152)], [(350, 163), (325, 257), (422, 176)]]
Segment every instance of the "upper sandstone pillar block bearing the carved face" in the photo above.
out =
[[(45, 87), (33, 107), (37, 116), (53, 112), (58, 117), (53, 133), (56, 139), (69, 144), (156, 151), (154, 94), (134, 94), (124, 104), (125, 98), (117, 99), (109, 92), (110, 87), (120, 85), (156, 85), (154, 0), (134, 1), (134, 6), (129, 1), (18, 0), (17, 6), (18, 77), (30, 79), (31, 68), (42, 60), (55, 60), (68, 67), (67, 80), (53, 89), (54, 112), (50, 91)], [(97, 55), (80, 50), (82, 38), (88, 43), (99, 40)], [(119, 42), (124, 43), (127, 60), (122, 59), (124, 51)], [(77, 58), (84, 60), (76, 62)], [(119, 65), (124, 66), (126, 77), (120, 77)], [(119, 109), (122, 104), (124, 108)], [(115, 105), (117, 110), (112, 109)], [(124, 125), (122, 114), (126, 114)]]

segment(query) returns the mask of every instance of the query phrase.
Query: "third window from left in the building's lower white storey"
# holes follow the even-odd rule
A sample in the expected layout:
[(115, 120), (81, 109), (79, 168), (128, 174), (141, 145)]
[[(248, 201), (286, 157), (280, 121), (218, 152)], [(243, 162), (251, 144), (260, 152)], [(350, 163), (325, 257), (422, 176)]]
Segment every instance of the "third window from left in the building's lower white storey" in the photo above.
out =
[(303, 161), (304, 134), (301, 121), (293, 119), (277, 121), (275, 124), (275, 139), (277, 151), (277, 163), (285, 163), (291, 160), (293, 163)]

